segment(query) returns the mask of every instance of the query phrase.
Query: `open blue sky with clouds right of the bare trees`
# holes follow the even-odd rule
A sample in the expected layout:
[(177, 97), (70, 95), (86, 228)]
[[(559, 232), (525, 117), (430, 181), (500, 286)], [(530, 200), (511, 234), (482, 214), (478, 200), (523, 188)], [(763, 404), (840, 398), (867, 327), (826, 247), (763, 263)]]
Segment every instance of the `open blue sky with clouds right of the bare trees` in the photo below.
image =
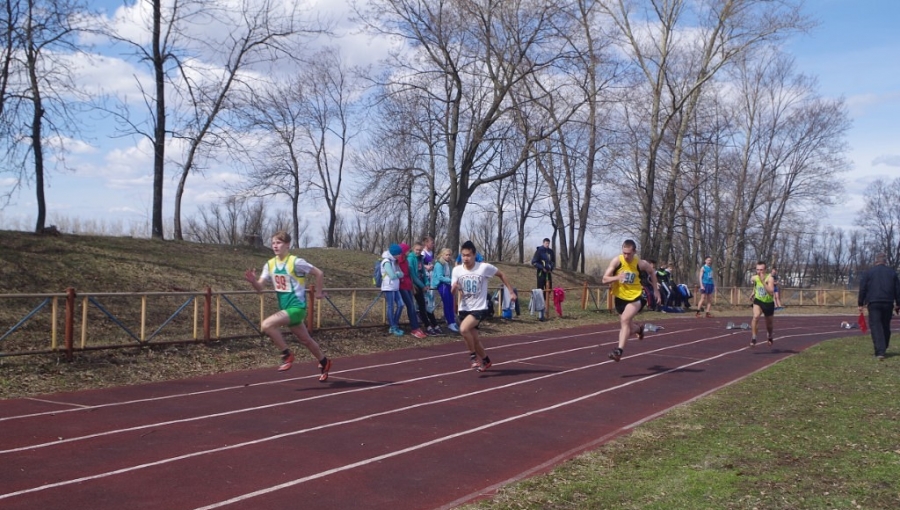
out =
[(818, 77), (822, 95), (846, 99), (853, 166), (846, 176), (847, 200), (830, 211), (829, 220), (852, 227), (865, 187), (900, 176), (900, 2), (815, 0), (807, 9), (819, 26), (787, 48), (802, 72)]

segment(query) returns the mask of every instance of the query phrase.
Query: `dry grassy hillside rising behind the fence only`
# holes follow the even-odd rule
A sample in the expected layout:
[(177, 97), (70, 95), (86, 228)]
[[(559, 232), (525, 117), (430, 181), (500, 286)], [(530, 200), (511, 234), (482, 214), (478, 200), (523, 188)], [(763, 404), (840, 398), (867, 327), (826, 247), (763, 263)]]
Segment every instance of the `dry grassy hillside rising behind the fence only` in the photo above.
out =
[[(293, 250), (326, 276), (330, 288), (371, 287), (376, 255), (331, 248)], [(38, 236), (0, 231), (0, 293), (244, 290), (244, 270), (257, 271), (268, 248), (98, 236)], [(519, 289), (535, 284), (526, 264), (498, 263)], [(554, 284), (581, 287), (586, 275), (559, 271)], [(595, 280), (591, 280), (595, 284)]]

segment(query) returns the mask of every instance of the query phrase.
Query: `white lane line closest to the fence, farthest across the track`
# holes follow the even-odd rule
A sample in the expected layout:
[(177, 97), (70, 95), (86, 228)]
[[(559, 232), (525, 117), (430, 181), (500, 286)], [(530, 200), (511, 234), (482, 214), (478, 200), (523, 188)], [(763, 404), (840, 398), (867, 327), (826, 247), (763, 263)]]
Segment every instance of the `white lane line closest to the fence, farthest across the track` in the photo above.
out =
[[(598, 335), (598, 334), (603, 334), (603, 333), (614, 333), (617, 331), (618, 331), (618, 329), (608, 330), (608, 331), (593, 331), (593, 332), (589, 332), (589, 333), (578, 333), (578, 334), (573, 334), (573, 335), (564, 335), (564, 336), (555, 336), (555, 337), (543, 337), (543, 338), (539, 338), (537, 340), (531, 340), (528, 342), (516, 342), (516, 343), (511, 343), (511, 344), (498, 345), (496, 347), (493, 347), (491, 350), (499, 350), (499, 349), (506, 349), (506, 348), (511, 348), (511, 347), (533, 345), (533, 344), (538, 344), (538, 343), (543, 343), (543, 342), (550, 342), (550, 341), (554, 341), (554, 340), (564, 340), (564, 339), (569, 339), (569, 338), (578, 338), (578, 337), (582, 337), (582, 336)], [(397, 366), (397, 365), (403, 365), (406, 363), (419, 363), (422, 361), (431, 361), (431, 360), (435, 360), (435, 359), (446, 358), (446, 357), (450, 357), (450, 356), (459, 356), (459, 355), (460, 355), (459, 352), (437, 354), (434, 356), (425, 356), (425, 357), (421, 357), (421, 358), (392, 361), (390, 363), (381, 363), (381, 364), (377, 364), (377, 365), (367, 365), (367, 366), (363, 366), (363, 367), (350, 368), (350, 369), (345, 369), (345, 370), (336, 370), (336, 371), (332, 371), (331, 374), (332, 375), (346, 374), (346, 373), (350, 373), (350, 372), (357, 372), (360, 370), (372, 370), (372, 369), (377, 369), (377, 368), (392, 367), (392, 366)], [(146, 403), (146, 402), (158, 402), (158, 401), (169, 400), (169, 399), (173, 399), (173, 398), (195, 397), (198, 395), (209, 395), (212, 393), (219, 393), (219, 392), (223, 392), (223, 391), (242, 390), (242, 389), (246, 389), (246, 388), (255, 388), (255, 387), (260, 387), (260, 386), (268, 386), (268, 385), (272, 385), (272, 384), (284, 384), (287, 382), (294, 382), (294, 381), (299, 381), (302, 379), (312, 379), (312, 378), (318, 378), (318, 377), (319, 377), (318, 375), (290, 377), (290, 378), (278, 379), (278, 380), (274, 380), (274, 381), (263, 381), (263, 382), (258, 382), (258, 383), (240, 384), (240, 385), (236, 385), (236, 386), (224, 386), (222, 388), (213, 388), (211, 390), (191, 391), (191, 392), (187, 392), (187, 393), (173, 393), (171, 395), (163, 395), (160, 397), (142, 398), (142, 399), (135, 399), (135, 400), (126, 400), (126, 401), (122, 401), (122, 402), (110, 402), (107, 404), (81, 406), (77, 409), (60, 409), (60, 410), (56, 410), (56, 411), (42, 411), (40, 413), (30, 413), (30, 414), (21, 414), (21, 415), (15, 415), (15, 416), (6, 416), (6, 417), (0, 417), (0, 422), (9, 421), (9, 420), (18, 420), (18, 419), (23, 419), (23, 418), (36, 418), (36, 417), (41, 417), (41, 416), (55, 416), (57, 414), (71, 413), (71, 412), (77, 412), (77, 411), (87, 411), (87, 410), (94, 410), (94, 409), (102, 409), (105, 407), (117, 407), (117, 406), (132, 405), (132, 404), (142, 404), (142, 403)], [(58, 402), (58, 403), (60, 405), (78, 405), (78, 404), (65, 404), (63, 402)]]

